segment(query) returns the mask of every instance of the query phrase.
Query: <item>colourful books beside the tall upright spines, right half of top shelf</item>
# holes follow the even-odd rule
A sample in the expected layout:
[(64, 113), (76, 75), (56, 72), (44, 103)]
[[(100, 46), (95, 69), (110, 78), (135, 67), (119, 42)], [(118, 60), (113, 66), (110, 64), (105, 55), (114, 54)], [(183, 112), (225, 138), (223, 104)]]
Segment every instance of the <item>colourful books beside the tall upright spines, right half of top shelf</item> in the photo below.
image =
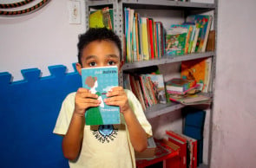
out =
[(210, 15), (192, 15), (185, 23), (172, 24), (166, 32), (166, 54), (205, 52), (212, 21)]

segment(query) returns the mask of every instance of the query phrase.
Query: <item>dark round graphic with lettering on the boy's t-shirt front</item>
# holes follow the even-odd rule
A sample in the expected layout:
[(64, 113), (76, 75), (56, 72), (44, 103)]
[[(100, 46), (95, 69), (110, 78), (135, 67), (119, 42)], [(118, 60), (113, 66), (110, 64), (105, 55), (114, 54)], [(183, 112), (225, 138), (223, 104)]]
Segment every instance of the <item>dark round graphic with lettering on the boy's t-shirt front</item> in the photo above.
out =
[(101, 143), (109, 143), (114, 141), (117, 137), (118, 129), (113, 125), (101, 125), (96, 130), (93, 130), (95, 139), (98, 139)]

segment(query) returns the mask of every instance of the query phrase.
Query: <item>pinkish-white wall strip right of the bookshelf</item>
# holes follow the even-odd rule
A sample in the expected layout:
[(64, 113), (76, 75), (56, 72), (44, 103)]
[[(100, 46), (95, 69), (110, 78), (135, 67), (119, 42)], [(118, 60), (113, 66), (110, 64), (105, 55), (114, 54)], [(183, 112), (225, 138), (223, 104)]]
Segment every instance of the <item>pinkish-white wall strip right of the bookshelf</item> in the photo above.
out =
[(256, 165), (256, 1), (219, 1), (213, 168)]

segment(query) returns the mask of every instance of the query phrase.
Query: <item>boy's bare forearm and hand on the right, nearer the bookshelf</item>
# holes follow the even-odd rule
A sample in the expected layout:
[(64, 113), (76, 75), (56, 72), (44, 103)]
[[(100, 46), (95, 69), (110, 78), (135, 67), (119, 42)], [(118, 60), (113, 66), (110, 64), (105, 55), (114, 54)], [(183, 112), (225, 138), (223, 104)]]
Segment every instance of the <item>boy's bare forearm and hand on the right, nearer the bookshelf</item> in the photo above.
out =
[(120, 111), (123, 113), (128, 127), (129, 138), (135, 151), (143, 152), (148, 146), (147, 134), (129, 106), (128, 97), (124, 89), (122, 87), (114, 87), (108, 92), (107, 96), (108, 99), (104, 100), (106, 104), (120, 107)]

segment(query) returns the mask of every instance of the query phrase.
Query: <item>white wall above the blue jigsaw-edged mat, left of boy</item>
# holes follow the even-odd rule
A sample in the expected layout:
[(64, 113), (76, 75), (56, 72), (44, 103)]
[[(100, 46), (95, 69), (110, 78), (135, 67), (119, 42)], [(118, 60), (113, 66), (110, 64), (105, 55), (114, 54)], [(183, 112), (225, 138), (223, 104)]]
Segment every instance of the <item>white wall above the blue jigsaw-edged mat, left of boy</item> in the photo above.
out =
[[(24, 68), (39, 68), (43, 76), (49, 75), (48, 66), (56, 64), (74, 71), (77, 37), (85, 31), (85, 16), (81, 24), (69, 24), (67, 3), (54, 0), (30, 15), (0, 16), (0, 72), (8, 71), (19, 81)], [(84, 9), (83, 0), (81, 4)]]

